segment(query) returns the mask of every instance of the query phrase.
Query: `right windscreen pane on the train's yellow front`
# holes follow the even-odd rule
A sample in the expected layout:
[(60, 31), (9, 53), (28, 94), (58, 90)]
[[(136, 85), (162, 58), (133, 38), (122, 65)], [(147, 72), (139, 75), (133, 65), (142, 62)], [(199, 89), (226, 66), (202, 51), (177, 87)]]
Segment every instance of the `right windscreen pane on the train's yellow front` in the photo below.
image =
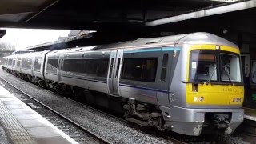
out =
[(240, 61), (238, 55), (221, 55), (221, 80), (224, 82), (242, 82)]

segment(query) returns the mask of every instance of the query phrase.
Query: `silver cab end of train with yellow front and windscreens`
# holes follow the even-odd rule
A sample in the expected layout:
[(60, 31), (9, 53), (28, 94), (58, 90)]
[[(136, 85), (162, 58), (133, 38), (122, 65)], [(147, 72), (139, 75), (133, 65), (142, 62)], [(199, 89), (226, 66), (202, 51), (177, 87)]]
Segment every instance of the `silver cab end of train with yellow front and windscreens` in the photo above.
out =
[(174, 46), (175, 58), (170, 107), (159, 106), (165, 126), (187, 135), (232, 134), (244, 114), (238, 46), (213, 34), (190, 34)]

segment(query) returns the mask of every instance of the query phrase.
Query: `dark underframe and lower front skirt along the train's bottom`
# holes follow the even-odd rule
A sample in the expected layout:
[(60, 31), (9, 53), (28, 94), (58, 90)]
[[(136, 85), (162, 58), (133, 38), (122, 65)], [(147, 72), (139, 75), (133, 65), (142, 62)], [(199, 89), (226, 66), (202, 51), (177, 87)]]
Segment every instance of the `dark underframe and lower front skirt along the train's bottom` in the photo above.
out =
[(222, 130), (224, 134), (231, 134), (243, 119), (243, 110), (241, 109), (201, 110), (175, 106), (154, 106), (145, 102), (138, 102), (134, 98), (114, 97), (77, 86), (69, 86), (50, 80), (45, 81), (42, 78), (21, 74), (6, 68), (4, 70), (56, 94), (114, 110), (119, 114), (124, 114), (127, 121), (137, 123), (140, 126), (154, 126), (158, 130), (172, 130), (194, 136), (202, 133), (212, 133), (212, 130)]

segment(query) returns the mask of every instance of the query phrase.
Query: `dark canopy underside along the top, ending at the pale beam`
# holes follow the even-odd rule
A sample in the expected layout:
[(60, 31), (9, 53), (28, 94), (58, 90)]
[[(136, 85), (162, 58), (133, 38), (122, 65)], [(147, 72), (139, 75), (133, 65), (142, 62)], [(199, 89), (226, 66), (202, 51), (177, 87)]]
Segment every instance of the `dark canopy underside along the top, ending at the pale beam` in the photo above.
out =
[(0, 27), (66, 30), (141, 28), (145, 22), (241, 0), (1, 0)]

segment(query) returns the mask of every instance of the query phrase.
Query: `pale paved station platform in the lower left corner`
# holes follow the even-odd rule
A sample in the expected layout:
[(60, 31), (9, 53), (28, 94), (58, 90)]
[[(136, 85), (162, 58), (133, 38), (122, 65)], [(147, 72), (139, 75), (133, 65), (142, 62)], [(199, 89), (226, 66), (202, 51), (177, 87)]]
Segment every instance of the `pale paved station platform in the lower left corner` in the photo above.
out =
[(0, 143), (78, 143), (0, 86)]

